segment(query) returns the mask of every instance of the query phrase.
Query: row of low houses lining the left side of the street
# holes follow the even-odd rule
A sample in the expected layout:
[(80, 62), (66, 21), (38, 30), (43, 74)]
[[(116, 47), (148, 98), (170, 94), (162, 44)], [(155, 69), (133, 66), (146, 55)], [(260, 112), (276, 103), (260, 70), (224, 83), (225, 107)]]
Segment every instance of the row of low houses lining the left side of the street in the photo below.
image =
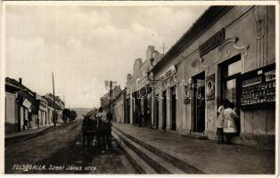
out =
[(62, 120), (64, 102), (52, 94), (40, 96), (10, 77), (5, 78), (5, 133), (21, 132), (45, 125), (54, 125), (54, 107), (58, 121)]

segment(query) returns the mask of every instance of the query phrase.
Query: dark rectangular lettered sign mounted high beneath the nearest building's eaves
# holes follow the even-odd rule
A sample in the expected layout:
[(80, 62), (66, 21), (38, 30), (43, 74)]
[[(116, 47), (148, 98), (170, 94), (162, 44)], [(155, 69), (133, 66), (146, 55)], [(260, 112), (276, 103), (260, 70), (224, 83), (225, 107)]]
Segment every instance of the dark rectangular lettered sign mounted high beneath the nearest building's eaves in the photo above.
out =
[(200, 57), (218, 47), (225, 40), (225, 28), (221, 28), (214, 36), (199, 46)]

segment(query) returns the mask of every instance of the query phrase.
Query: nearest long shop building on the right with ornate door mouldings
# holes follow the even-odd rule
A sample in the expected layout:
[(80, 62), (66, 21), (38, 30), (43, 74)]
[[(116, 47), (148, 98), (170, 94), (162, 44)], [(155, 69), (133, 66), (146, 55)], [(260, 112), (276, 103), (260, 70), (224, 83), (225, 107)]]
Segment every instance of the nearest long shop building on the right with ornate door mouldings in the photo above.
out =
[(240, 119), (233, 142), (273, 150), (276, 131), (274, 6), (211, 6), (151, 70), (156, 128), (216, 139), (228, 99)]

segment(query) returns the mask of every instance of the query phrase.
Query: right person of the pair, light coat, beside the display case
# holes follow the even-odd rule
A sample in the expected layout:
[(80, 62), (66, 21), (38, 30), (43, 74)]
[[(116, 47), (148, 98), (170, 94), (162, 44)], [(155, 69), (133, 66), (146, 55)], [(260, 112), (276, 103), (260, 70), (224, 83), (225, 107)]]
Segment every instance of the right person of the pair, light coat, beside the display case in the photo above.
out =
[(224, 133), (226, 134), (226, 143), (231, 143), (232, 135), (237, 132), (235, 119), (239, 118), (239, 116), (235, 112), (235, 104), (229, 102), (228, 107), (224, 109), (223, 114), (225, 117), (224, 120)]

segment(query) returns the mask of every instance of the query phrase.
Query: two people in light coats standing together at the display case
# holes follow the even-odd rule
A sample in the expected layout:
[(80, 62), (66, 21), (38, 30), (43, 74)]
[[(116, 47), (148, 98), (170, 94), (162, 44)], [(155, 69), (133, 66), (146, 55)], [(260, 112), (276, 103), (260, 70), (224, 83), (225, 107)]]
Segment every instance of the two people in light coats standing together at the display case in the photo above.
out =
[(226, 143), (231, 143), (232, 136), (237, 133), (235, 123), (239, 119), (235, 111), (235, 104), (226, 99), (222, 101), (217, 112), (218, 144), (224, 142), (224, 135), (226, 135)]

